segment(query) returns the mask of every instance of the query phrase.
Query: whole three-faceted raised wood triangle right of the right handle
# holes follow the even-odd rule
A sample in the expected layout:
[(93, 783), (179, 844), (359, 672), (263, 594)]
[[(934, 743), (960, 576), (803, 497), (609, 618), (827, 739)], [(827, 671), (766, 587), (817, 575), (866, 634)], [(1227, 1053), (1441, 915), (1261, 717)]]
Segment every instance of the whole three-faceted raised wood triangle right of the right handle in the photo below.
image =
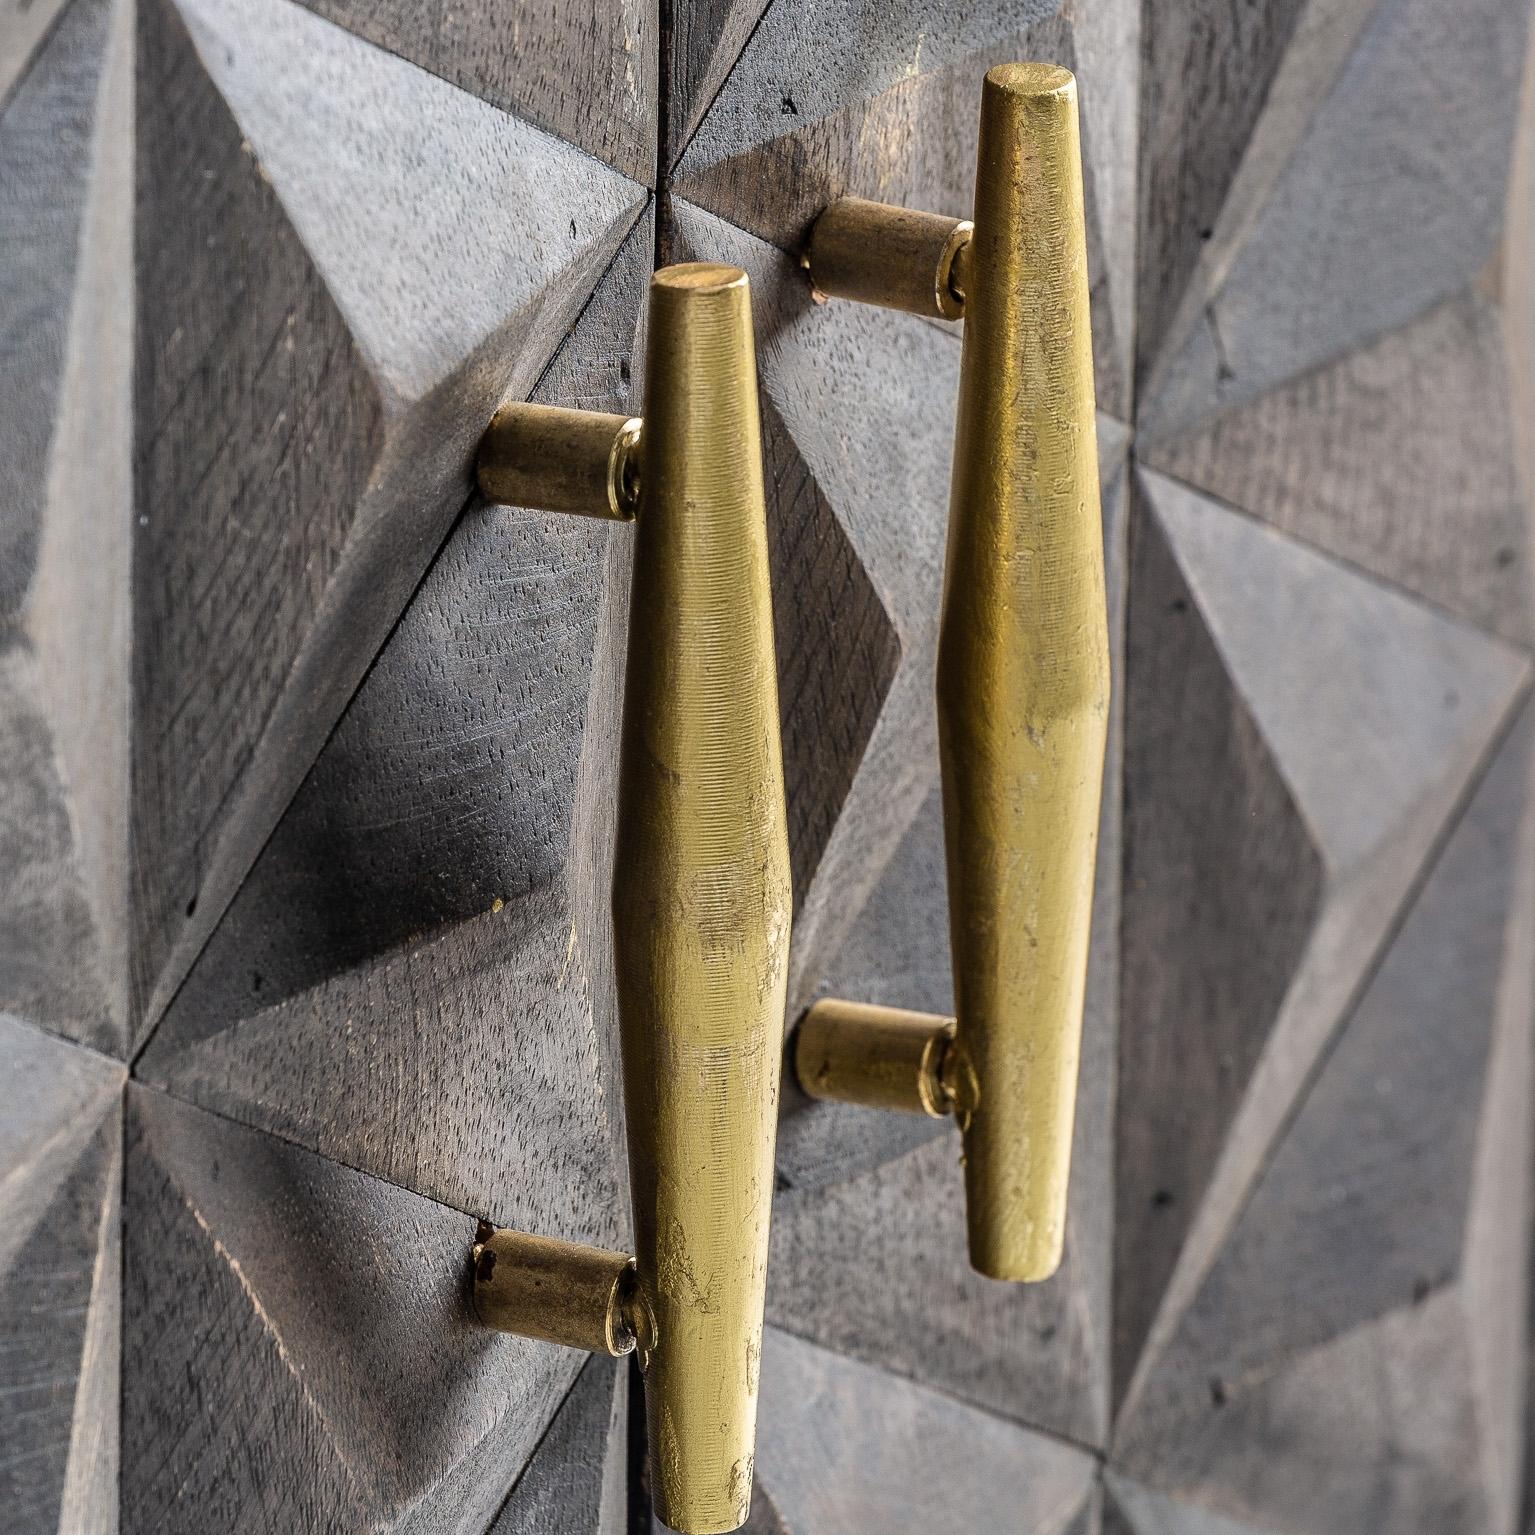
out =
[[(1116, 1217), (1137, 1282), (1116, 1299), (1121, 1392), (1148, 1368), (1159, 1308), (1176, 1314), (1226, 1240), (1529, 674), (1498, 640), (1256, 520), (1144, 487), (1119, 1033), (1137, 1090), (1119, 1099)], [(1226, 807), (1214, 786), (1239, 774)]]

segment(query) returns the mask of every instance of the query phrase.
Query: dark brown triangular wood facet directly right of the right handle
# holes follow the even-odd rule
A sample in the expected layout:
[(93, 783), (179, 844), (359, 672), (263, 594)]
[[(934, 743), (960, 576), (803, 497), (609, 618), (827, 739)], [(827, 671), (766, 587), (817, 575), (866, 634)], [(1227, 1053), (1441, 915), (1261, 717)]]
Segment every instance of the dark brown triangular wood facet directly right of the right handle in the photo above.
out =
[[(1124, 1389), (1311, 936), (1323, 867), (1154, 516), (1131, 522), (1114, 1382)], [(1170, 946), (1182, 962), (1170, 962)], [(1156, 1111), (1148, 1105), (1156, 1102)], [(1134, 1282), (1130, 1282), (1130, 1276)]]

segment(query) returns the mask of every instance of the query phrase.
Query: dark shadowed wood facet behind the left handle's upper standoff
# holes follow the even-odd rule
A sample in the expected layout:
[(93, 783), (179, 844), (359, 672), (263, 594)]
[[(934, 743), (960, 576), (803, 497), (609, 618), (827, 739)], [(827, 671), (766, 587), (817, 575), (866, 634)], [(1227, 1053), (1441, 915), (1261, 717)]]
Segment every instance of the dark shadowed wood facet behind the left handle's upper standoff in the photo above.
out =
[[(651, 241), (646, 216), (534, 399), (629, 408)], [(602, 522), (470, 503), (172, 1004), (167, 1039), (563, 876), (593, 662), (611, 640), (594, 596), (622, 542)]]

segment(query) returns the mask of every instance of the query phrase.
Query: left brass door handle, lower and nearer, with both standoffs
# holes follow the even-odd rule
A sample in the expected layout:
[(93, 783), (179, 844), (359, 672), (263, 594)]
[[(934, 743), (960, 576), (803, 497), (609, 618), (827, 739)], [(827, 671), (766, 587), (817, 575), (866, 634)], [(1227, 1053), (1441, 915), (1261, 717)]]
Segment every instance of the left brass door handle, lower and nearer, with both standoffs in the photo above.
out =
[(789, 840), (746, 275), (651, 284), (643, 421), (508, 405), (494, 500), (635, 517), (612, 892), (635, 1251), (482, 1230), (503, 1331), (637, 1346), (657, 1514), (744, 1523), (789, 959)]

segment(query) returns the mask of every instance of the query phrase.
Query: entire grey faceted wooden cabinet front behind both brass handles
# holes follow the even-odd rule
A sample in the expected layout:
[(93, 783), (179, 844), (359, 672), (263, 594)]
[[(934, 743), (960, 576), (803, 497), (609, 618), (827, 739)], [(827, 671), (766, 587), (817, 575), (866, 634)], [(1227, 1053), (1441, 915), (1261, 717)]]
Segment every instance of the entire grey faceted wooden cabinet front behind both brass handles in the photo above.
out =
[(1535, 1529), (1527, 21), (0, 0), (0, 1527), (648, 1529), (626, 1368), (465, 1308), (477, 1217), (628, 1239), (628, 545), (474, 444), (751, 273), (791, 1022), (947, 1010), (961, 338), (795, 253), (966, 213), (1036, 57), (1116, 677), (1067, 1260), (973, 1276), (953, 1131), (787, 1085), (752, 1529)]

